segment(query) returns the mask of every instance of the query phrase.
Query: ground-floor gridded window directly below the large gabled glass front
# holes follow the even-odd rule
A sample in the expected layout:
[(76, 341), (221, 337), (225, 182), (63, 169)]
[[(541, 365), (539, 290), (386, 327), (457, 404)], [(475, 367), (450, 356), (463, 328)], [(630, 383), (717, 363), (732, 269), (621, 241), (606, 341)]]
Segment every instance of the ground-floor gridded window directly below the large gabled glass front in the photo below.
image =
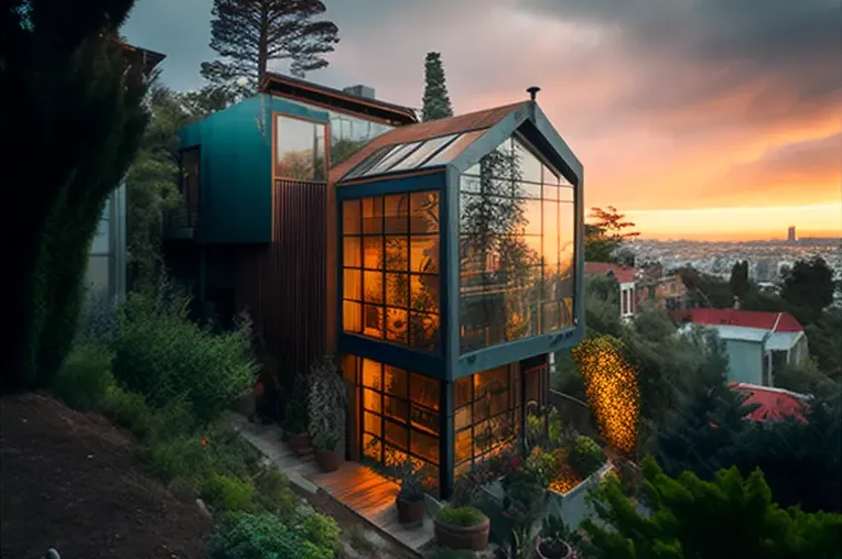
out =
[(516, 364), (489, 369), (454, 384), (454, 463), (460, 473), (515, 440), (520, 430)]

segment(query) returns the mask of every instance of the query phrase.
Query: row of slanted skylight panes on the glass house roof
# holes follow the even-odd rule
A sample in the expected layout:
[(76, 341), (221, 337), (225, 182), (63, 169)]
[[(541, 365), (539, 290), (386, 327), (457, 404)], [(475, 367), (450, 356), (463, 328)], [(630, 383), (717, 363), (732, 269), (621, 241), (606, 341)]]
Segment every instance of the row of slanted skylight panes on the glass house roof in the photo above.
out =
[(473, 130), (382, 147), (352, 168), (341, 182), (446, 165), (486, 131)]

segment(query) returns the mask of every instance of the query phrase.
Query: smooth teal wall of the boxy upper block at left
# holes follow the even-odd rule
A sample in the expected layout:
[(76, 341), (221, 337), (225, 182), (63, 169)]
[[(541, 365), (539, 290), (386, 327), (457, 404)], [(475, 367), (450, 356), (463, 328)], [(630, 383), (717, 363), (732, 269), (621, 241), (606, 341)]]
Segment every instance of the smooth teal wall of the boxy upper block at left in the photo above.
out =
[(201, 149), (201, 243), (267, 243), (272, 223), (272, 113), (328, 122), (327, 112), (259, 95), (181, 131)]

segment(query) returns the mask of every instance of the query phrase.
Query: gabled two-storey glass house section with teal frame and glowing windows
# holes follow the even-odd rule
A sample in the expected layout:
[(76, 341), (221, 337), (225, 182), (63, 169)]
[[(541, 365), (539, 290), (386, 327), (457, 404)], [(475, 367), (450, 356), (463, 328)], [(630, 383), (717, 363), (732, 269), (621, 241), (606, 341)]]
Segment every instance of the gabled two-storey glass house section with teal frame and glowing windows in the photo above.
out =
[(328, 187), (349, 458), (409, 456), (447, 497), (584, 335), (582, 164), (530, 100), (387, 132)]

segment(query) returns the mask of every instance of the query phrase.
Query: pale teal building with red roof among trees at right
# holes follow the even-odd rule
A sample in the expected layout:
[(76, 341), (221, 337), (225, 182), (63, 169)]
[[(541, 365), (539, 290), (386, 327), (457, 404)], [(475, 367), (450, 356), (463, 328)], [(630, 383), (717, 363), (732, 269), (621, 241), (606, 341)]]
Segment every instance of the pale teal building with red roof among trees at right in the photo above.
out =
[(807, 336), (788, 313), (763, 313), (716, 308), (694, 308), (673, 314), (683, 322), (715, 329), (728, 354), (728, 381), (775, 385), (775, 373), (808, 358)]

